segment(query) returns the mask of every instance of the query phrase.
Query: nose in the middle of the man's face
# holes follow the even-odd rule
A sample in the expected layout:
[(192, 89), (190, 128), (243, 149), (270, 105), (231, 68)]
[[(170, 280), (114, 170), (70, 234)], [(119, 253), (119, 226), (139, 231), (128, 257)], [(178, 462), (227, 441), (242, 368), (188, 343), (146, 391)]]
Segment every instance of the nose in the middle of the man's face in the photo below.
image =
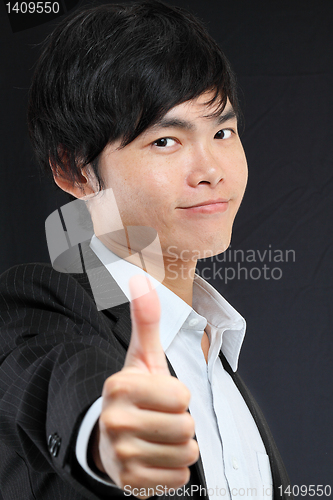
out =
[(215, 187), (225, 178), (223, 155), (213, 152), (209, 147), (196, 145), (192, 151), (191, 169), (187, 182), (191, 187), (209, 184)]

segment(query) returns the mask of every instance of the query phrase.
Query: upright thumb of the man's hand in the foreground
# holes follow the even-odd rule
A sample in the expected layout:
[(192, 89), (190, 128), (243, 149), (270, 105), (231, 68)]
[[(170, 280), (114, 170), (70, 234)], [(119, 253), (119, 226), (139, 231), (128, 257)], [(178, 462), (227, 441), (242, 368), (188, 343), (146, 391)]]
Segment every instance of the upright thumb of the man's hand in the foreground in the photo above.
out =
[(132, 335), (124, 368), (139, 368), (150, 373), (170, 375), (160, 342), (160, 302), (144, 276), (130, 279)]

